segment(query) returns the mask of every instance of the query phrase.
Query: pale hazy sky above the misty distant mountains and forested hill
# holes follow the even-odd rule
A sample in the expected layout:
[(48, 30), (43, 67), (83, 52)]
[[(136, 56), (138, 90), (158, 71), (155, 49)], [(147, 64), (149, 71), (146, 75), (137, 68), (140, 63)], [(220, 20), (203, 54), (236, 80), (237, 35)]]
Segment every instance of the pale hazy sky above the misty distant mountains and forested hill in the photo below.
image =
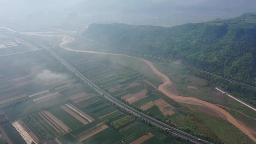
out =
[(256, 0), (0, 0), (0, 23), (28, 15), (58, 21), (76, 12), (88, 24), (180, 24), (231, 18), (256, 12), (255, 7)]

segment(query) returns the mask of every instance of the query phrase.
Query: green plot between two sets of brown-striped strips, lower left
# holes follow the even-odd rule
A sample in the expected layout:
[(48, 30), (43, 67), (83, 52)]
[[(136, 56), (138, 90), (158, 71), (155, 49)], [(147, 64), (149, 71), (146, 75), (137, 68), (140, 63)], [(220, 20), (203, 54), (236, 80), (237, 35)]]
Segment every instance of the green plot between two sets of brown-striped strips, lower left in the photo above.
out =
[(67, 125), (71, 130), (79, 128), (83, 125), (79, 120), (68, 114), (60, 107), (54, 107), (49, 111), (59, 120), (61, 120), (61, 122)]

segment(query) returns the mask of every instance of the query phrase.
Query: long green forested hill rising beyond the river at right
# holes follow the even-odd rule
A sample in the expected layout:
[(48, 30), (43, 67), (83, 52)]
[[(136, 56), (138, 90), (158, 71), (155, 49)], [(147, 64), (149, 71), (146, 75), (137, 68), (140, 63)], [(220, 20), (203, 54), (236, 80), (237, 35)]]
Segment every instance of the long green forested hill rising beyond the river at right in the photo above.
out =
[(163, 56), (256, 86), (256, 13), (174, 27), (92, 24), (83, 35), (116, 49)]

